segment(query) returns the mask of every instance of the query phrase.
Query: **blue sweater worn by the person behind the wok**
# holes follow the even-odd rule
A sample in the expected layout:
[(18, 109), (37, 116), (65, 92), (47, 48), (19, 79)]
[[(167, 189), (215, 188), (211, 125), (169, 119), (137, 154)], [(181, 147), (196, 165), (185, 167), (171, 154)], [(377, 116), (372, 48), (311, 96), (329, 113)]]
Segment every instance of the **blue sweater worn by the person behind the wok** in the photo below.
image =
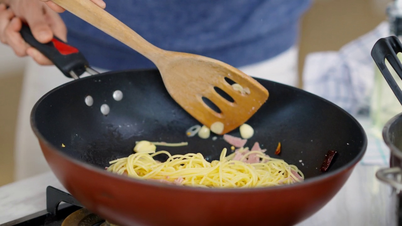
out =
[[(297, 42), (311, 0), (105, 0), (106, 10), (150, 43), (240, 67), (272, 58)], [(68, 42), (91, 66), (107, 70), (154, 64), (69, 12)]]

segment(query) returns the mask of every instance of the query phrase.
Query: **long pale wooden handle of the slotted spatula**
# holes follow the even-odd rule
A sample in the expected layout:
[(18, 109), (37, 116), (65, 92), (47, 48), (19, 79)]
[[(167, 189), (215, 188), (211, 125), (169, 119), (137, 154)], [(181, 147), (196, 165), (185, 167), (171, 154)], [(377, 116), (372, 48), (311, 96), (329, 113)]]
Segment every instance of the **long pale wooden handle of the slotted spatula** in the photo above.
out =
[[(155, 62), (165, 52), (146, 41), (127, 25), (90, 0), (52, 0), (52, 2), (121, 41), (152, 62)], [(135, 19), (133, 18), (133, 20)]]

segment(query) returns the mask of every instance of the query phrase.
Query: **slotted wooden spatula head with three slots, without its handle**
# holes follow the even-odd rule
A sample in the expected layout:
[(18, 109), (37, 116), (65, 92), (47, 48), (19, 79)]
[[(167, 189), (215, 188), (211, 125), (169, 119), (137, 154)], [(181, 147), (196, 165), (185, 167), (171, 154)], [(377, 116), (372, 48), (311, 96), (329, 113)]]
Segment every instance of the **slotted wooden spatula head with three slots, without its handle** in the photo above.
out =
[[(264, 86), (228, 64), (189, 53), (169, 55), (169, 61), (157, 62), (169, 94), (203, 125), (223, 123), (218, 134), (226, 134), (245, 123), (268, 99)], [(235, 90), (230, 80), (248, 88), (249, 94)]]

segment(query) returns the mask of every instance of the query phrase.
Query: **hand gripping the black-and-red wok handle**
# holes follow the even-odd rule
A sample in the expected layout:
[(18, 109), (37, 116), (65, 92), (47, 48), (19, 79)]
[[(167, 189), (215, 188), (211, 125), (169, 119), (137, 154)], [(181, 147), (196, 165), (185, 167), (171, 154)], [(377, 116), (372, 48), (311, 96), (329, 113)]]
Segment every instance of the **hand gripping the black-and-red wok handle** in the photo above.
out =
[(20, 30), (23, 23), (27, 23), (41, 43), (48, 43), (53, 35), (67, 41), (67, 29), (59, 14), (37, 0), (8, 0), (8, 6), (0, 4), (0, 41), (9, 45), (19, 57), (29, 55), (38, 64), (53, 64), (24, 41)]

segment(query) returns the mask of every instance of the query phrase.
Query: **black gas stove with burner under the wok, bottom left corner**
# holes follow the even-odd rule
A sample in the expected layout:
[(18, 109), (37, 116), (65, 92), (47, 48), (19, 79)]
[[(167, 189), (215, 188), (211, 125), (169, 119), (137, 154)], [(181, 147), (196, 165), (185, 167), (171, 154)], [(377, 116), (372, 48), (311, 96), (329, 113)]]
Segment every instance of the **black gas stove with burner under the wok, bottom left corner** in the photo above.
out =
[(57, 188), (46, 188), (46, 210), (0, 226), (115, 226), (91, 213), (72, 195)]

